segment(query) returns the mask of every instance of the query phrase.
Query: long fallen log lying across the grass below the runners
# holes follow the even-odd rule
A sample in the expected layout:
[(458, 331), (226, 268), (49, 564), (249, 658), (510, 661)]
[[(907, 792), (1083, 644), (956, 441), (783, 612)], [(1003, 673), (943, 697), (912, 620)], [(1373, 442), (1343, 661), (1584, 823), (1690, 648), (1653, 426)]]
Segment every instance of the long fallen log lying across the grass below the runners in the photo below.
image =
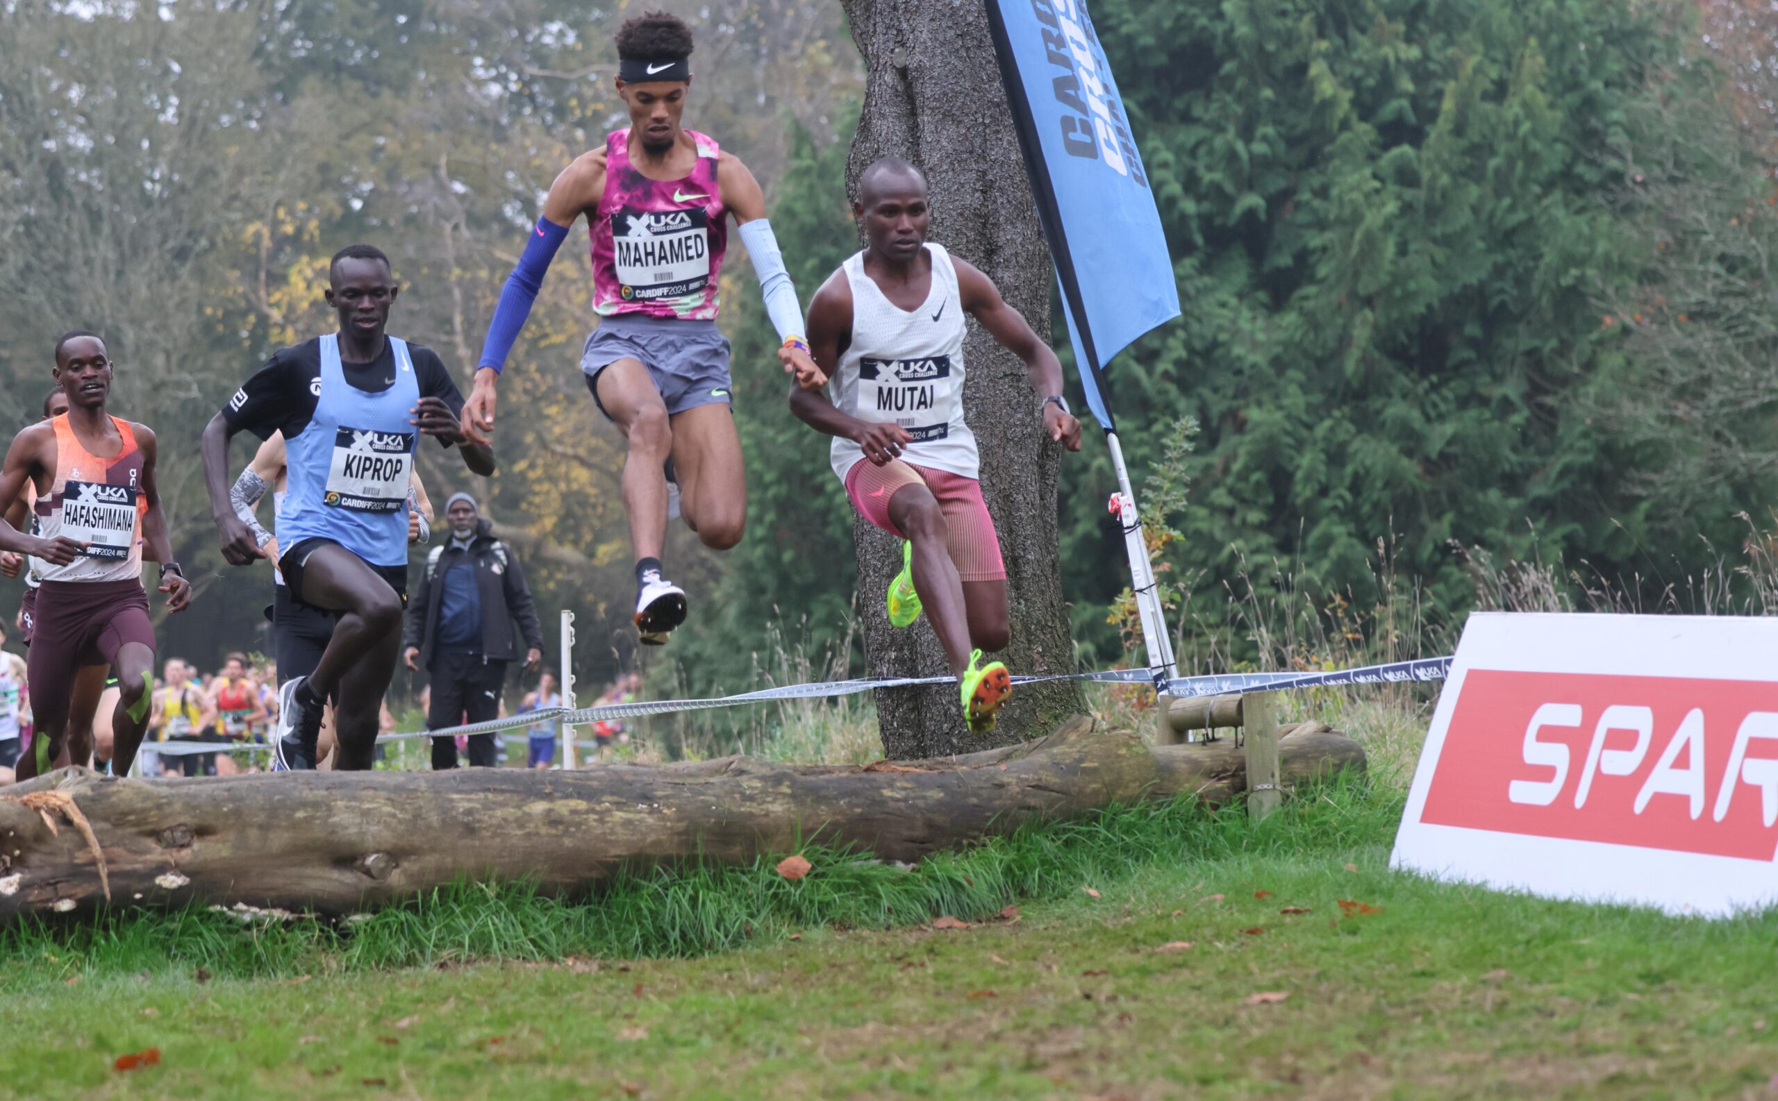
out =
[[(1280, 746), (1285, 783), (1366, 764), (1357, 742), (1319, 723)], [(107, 886), (119, 906), (343, 915), (462, 877), (580, 891), (624, 865), (745, 863), (814, 842), (917, 861), (1033, 820), (1182, 792), (1220, 804), (1243, 787), (1230, 739), (1150, 748), (1090, 719), (1021, 746), (864, 767), (727, 756), (203, 780), (60, 769), (0, 788), (0, 922), (91, 909)], [(69, 815), (89, 826), (71, 828)]]

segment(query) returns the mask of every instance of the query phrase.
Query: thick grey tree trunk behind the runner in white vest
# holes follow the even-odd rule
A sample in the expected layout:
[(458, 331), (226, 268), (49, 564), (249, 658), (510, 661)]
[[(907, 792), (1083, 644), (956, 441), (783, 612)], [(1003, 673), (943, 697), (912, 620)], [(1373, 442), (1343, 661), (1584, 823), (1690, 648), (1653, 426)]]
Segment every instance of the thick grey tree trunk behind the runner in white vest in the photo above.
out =
[[(846, 192), (878, 156), (905, 156), (932, 186), (932, 238), (981, 268), (1044, 337), (1053, 265), (1026, 185), (1006, 92), (981, 0), (843, 0), (868, 69), (864, 114), (852, 139)], [(1056, 533), (1060, 448), (1042, 435), (1042, 410), (1024, 364), (974, 321), (964, 341), (964, 416), (981, 448), (981, 495), (999, 533), (1012, 606), (1013, 673), (1072, 673), (1074, 641), (1061, 602)], [(882, 593), (901, 568), (900, 542), (853, 517), (864, 652), (871, 675), (944, 675), (949, 666), (925, 620), (889, 625)], [(1013, 693), (999, 725), (971, 737), (955, 687), (877, 693), (889, 756), (939, 756), (1005, 746), (1053, 730), (1081, 710), (1069, 682)]]

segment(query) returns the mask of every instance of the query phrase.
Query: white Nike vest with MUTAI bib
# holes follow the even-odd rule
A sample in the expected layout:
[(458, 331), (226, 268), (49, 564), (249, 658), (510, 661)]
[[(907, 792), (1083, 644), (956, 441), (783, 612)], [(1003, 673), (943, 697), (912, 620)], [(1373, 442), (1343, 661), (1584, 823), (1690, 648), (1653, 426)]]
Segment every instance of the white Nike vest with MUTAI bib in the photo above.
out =
[[(932, 289), (914, 311), (905, 311), (864, 273), (864, 254), (846, 259), (852, 284), (852, 345), (834, 375), (834, 405), (869, 423), (900, 424), (914, 437), (901, 460), (978, 478), (976, 437), (964, 424), (964, 304), (957, 268), (942, 245), (926, 243)], [(834, 474), (864, 458), (864, 449), (834, 437)]]

